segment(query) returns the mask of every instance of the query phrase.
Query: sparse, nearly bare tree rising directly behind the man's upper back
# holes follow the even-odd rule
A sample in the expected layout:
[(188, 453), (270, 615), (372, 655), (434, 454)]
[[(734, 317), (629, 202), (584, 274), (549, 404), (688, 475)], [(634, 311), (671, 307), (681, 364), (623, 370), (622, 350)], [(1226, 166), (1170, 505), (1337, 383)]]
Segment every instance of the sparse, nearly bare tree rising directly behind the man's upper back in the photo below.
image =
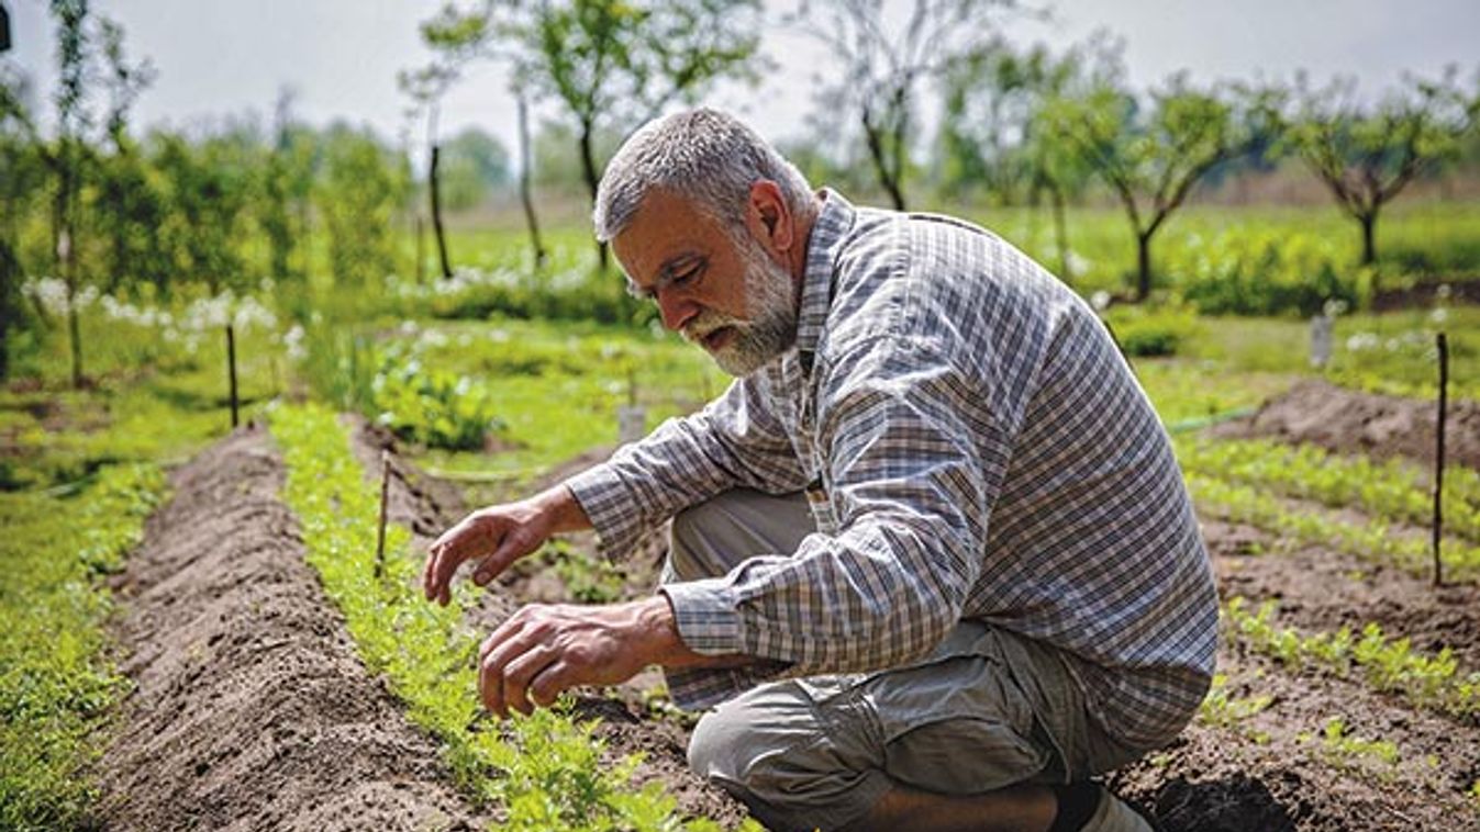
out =
[(884, 0), (824, 0), (795, 18), (844, 64), (821, 106), (858, 120), (879, 186), (906, 208), (904, 177), (915, 133), (916, 87), (993, 43), (999, 16), (1017, 0), (913, 0), (903, 27), (884, 21)]

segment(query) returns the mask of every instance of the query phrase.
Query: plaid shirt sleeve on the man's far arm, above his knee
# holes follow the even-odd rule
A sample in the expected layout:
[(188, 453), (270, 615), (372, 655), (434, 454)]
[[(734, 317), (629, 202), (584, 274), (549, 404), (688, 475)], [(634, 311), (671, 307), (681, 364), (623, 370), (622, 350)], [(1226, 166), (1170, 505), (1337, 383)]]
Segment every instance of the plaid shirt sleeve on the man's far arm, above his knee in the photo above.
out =
[(565, 480), (605, 557), (625, 557), (645, 531), (722, 491), (784, 494), (807, 485), (795, 446), (767, 408), (768, 384), (762, 374), (739, 380), (702, 411), (665, 421)]

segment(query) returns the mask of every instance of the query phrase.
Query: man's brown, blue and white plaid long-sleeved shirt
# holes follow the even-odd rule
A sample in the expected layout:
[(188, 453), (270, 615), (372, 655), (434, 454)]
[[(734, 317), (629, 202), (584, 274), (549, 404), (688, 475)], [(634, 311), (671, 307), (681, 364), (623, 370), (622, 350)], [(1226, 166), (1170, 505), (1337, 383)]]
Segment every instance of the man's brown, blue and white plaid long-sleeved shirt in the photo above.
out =
[(1077, 661), (1091, 711), (1169, 740), (1214, 669), (1218, 607), (1171, 443), (1095, 313), (996, 235), (854, 208), (807, 248), (796, 347), (567, 482), (610, 556), (736, 486), (818, 483), (836, 519), (793, 553), (663, 588), (684, 706), (780, 675), (925, 658), (962, 618)]

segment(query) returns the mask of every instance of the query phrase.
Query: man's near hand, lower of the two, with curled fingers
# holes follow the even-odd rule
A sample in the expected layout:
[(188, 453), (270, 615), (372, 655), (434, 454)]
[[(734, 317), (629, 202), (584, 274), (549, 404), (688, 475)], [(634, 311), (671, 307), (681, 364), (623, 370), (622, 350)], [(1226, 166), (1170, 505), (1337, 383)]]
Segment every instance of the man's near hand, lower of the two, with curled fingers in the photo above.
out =
[(580, 684), (619, 684), (651, 664), (707, 661), (684, 646), (662, 596), (608, 606), (530, 604), (484, 640), (478, 693), (499, 717), (530, 714)]

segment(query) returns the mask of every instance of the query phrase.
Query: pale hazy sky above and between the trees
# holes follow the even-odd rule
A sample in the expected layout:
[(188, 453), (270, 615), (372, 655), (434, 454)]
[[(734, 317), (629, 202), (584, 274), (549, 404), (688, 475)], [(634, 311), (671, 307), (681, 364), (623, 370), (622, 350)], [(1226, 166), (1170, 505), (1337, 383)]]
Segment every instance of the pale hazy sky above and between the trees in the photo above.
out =
[[(778, 12), (784, 0), (767, 0)], [(897, 16), (907, 0), (887, 0)], [(52, 22), (46, 0), (0, 0), (12, 18), (18, 62), (50, 89)], [(209, 126), (256, 111), (266, 120), (278, 92), (295, 90), (295, 112), (314, 124), (342, 118), (388, 139), (407, 129), (397, 71), (423, 65), (417, 24), (444, 0), (93, 0), (120, 22), (133, 59), (158, 75), (135, 108), (135, 124)], [(466, 6), (466, 0), (463, 0)], [(1020, 21), (1020, 43), (1067, 46), (1095, 30), (1126, 41), (1132, 84), (1151, 86), (1187, 69), (1196, 80), (1354, 75), (1366, 95), (1405, 71), (1436, 75), (1459, 64), (1480, 68), (1477, 0), (1058, 0), (1052, 22)], [(823, 47), (773, 30), (762, 50), (776, 68), (758, 87), (727, 84), (706, 103), (741, 114), (773, 140), (805, 134), (815, 106), (813, 78), (835, 71)], [(554, 112), (554, 111), (551, 111)], [(443, 134), (478, 126), (515, 146), (514, 102), (503, 72), (488, 64), (465, 72), (443, 103)], [(416, 137), (420, 136), (417, 127)]]

